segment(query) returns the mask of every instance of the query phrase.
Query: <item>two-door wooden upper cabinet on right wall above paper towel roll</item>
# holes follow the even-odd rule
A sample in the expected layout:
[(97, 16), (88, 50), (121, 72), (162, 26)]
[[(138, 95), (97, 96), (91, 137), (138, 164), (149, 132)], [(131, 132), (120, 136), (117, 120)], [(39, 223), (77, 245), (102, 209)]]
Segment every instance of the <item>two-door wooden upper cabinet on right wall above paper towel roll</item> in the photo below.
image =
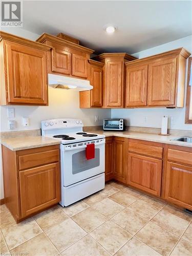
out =
[(184, 48), (125, 63), (125, 108), (183, 107), (186, 59)]

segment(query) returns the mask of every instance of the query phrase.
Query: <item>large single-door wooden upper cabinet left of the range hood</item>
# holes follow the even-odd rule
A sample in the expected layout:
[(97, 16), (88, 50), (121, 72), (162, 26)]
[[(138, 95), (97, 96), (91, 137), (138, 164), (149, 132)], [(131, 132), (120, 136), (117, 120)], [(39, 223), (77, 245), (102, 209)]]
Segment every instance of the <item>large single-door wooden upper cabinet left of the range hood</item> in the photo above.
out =
[(1, 104), (47, 105), (51, 48), (5, 32), (0, 41)]

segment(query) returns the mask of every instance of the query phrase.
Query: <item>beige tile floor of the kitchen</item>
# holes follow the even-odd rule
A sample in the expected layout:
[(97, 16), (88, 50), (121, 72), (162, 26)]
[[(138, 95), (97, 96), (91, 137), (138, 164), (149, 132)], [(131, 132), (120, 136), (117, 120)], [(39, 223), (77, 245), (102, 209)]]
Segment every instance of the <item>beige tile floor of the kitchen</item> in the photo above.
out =
[(192, 215), (115, 182), (19, 224), (0, 210), (1, 255), (192, 255)]

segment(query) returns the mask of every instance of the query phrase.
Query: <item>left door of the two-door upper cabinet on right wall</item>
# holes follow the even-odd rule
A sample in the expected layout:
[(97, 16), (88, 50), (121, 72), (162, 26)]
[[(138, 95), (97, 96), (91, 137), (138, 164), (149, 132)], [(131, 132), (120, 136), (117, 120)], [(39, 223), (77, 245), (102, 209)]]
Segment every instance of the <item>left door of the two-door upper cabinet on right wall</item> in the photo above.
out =
[(125, 107), (146, 106), (148, 65), (126, 67)]

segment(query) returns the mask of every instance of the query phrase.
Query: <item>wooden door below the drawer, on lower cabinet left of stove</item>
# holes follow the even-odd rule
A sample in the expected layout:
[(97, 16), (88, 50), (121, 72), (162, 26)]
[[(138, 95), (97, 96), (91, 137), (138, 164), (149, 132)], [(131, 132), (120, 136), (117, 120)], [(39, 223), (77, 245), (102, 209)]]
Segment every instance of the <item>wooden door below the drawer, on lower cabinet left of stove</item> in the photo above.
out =
[(19, 172), (22, 218), (60, 201), (58, 163)]

